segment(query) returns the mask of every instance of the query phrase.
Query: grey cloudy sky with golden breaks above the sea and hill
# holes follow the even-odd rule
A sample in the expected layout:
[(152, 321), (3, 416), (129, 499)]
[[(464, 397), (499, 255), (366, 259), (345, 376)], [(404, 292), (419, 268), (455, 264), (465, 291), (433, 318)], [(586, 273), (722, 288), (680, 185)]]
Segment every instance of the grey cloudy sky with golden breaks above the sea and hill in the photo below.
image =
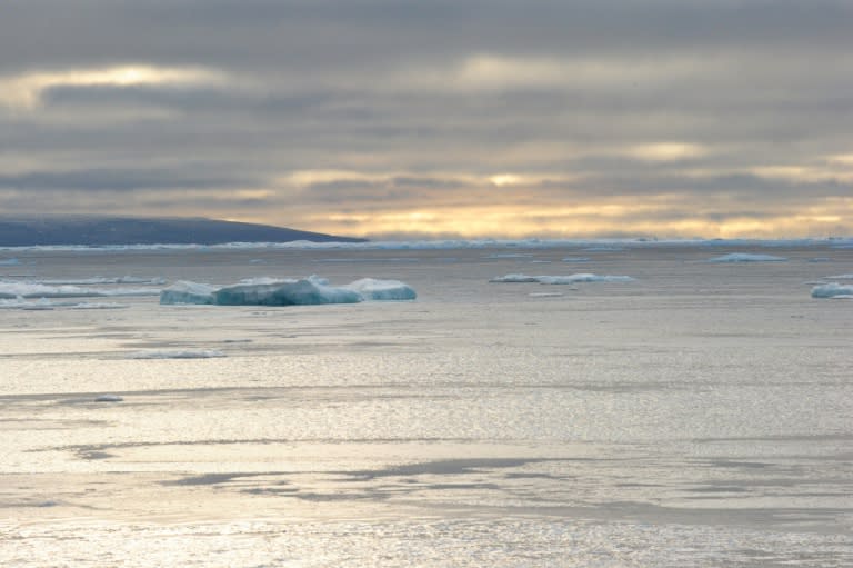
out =
[(850, 0), (27, 0), (0, 213), (853, 235)]

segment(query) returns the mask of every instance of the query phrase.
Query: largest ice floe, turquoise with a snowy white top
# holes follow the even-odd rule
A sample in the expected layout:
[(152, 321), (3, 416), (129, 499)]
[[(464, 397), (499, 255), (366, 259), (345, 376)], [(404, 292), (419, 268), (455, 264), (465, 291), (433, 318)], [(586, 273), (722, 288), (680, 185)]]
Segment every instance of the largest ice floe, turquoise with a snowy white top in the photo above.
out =
[(413, 300), (415, 291), (398, 280), (362, 278), (345, 286), (330, 286), (324, 278), (254, 278), (215, 287), (179, 281), (160, 292), (160, 303), (210, 303), (215, 306), (317, 306), (357, 303), (364, 300)]

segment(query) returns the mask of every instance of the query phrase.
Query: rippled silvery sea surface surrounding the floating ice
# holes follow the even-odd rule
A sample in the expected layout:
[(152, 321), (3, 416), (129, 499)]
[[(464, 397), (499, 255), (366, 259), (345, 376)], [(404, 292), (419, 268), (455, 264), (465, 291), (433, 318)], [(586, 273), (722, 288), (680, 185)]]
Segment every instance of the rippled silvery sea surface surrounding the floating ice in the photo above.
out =
[[(414, 302), (0, 311), (0, 565), (853, 564), (853, 303), (804, 283), (853, 250), (601, 250), (635, 280), (560, 296), (489, 279), (580, 248), (448, 252), (322, 265)], [(223, 286), (329, 252), (14, 256)]]

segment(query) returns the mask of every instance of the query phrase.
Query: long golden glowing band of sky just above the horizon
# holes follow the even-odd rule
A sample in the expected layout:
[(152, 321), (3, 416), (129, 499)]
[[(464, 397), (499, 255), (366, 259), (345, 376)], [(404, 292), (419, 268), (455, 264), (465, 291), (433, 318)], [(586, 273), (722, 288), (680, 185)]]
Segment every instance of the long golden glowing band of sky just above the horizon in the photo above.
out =
[[(853, 200), (851, 200), (853, 201)], [(593, 238), (601, 236), (656, 236), (660, 238), (773, 238), (831, 236), (853, 213), (853, 202), (826, 200), (807, 210), (769, 211), (766, 217), (708, 213), (725, 208), (710, 205), (695, 217), (670, 215), (685, 203), (676, 197), (651, 197), (643, 202), (628, 198), (576, 206), (525, 208), (518, 203), (421, 207), (414, 210), (358, 211), (348, 215), (309, 215), (311, 230), (369, 238), (417, 235), (429, 238)]]

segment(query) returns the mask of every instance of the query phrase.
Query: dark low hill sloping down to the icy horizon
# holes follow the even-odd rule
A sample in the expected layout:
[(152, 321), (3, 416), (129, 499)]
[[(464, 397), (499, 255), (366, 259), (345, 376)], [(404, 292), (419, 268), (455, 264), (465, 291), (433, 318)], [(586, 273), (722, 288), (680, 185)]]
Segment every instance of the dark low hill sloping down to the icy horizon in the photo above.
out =
[(223, 242), (364, 242), (269, 225), (204, 218), (107, 216), (0, 217), (0, 247), (42, 245), (221, 245)]

